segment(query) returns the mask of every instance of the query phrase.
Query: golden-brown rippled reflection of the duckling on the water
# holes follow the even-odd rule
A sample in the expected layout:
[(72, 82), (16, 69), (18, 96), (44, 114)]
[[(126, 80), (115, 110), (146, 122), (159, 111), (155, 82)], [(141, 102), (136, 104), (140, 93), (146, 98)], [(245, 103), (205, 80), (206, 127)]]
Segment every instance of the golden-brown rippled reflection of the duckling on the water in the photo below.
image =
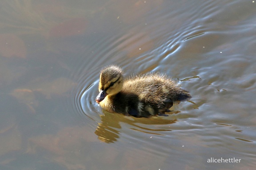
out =
[[(98, 127), (95, 131), (95, 134), (98, 135), (98, 139), (105, 143), (114, 143), (119, 138), (119, 134), (121, 133), (119, 129), (122, 129), (120, 123), (123, 122), (125, 124), (129, 124), (132, 126), (132, 130), (140, 131), (144, 133), (149, 133), (152, 135), (163, 135), (161, 131), (172, 131), (170, 129), (152, 129), (146, 128), (148, 125), (164, 125), (164, 124), (173, 124), (177, 120), (165, 120), (161, 118), (155, 119), (147, 119), (147, 118), (134, 118), (127, 117), (122, 114), (112, 114), (110, 112), (104, 111), (104, 115), (100, 115), (101, 123), (98, 124)], [(174, 113), (178, 113), (174, 112)], [(139, 126), (138, 124), (142, 124)]]

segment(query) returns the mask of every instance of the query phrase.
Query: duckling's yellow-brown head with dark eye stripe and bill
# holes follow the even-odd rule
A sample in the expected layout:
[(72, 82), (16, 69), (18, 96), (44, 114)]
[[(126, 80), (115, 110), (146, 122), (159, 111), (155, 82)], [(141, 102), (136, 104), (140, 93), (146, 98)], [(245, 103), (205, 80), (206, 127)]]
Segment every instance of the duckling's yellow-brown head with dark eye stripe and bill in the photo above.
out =
[(96, 103), (100, 103), (108, 95), (119, 93), (124, 85), (122, 69), (118, 66), (107, 66), (100, 72), (99, 95)]

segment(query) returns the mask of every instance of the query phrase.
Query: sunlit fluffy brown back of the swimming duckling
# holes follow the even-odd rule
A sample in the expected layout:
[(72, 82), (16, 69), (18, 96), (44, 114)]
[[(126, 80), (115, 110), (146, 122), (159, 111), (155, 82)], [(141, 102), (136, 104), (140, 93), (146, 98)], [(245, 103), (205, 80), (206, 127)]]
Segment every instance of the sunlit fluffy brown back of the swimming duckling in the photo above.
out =
[(160, 104), (164, 100), (184, 101), (191, 98), (188, 91), (166, 75), (148, 73), (124, 80), (123, 92), (135, 93), (140, 100)]

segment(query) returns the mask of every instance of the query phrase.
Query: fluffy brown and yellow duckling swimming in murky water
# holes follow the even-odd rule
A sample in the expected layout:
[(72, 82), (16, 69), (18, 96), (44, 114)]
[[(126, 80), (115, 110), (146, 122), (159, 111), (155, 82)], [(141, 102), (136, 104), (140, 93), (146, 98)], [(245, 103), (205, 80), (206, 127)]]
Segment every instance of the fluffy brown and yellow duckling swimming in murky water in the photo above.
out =
[(99, 94), (96, 103), (110, 113), (126, 116), (168, 116), (173, 103), (189, 100), (190, 93), (176, 81), (161, 73), (145, 73), (124, 78), (116, 65), (100, 71)]

